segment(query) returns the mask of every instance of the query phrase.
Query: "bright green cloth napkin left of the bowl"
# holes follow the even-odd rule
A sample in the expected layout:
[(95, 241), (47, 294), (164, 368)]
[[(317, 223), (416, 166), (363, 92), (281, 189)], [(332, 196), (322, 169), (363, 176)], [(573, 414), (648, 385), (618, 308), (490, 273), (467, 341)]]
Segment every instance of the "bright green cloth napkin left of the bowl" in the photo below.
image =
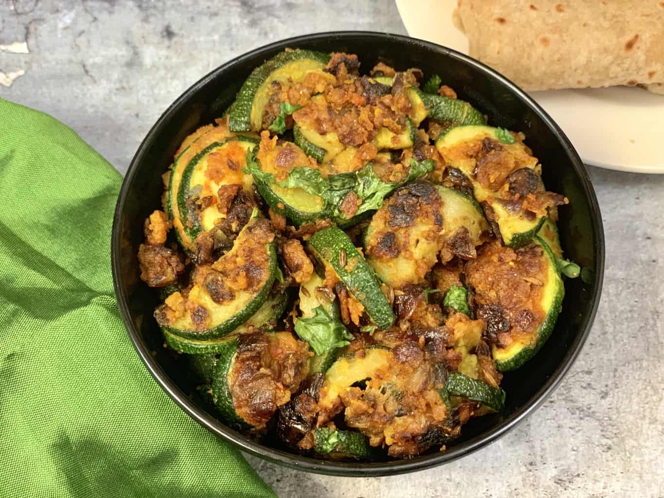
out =
[(74, 131), (0, 99), (0, 496), (272, 497), (129, 341), (110, 263), (120, 181)]

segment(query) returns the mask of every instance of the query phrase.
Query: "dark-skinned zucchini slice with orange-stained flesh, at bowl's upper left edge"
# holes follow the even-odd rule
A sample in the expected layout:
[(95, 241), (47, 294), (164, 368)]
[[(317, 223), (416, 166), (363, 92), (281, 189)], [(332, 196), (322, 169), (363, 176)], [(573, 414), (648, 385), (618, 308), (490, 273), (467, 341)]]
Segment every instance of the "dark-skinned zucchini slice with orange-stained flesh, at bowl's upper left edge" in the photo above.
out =
[[(177, 208), (181, 224), (191, 240), (214, 227), (216, 220), (226, 215), (218, 210), (218, 190), (222, 185), (240, 184), (250, 192), (252, 176), (242, 170), (246, 153), (258, 143), (256, 137), (239, 135), (214, 142), (191, 158), (182, 173), (177, 192)], [(214, 203), (203, 211), (195, 208), (196, 201), (212, 196)]]

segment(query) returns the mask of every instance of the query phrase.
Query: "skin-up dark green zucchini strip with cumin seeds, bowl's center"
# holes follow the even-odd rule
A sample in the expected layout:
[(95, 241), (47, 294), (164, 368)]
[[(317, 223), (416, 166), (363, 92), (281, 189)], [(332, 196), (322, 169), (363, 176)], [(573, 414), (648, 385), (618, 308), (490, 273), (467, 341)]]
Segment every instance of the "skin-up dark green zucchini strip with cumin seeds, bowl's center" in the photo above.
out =
[(320, 230), (307, 245), (321, 266), (333, 271), (349, 293), (364, 307), (379, 329), (395, 321), (392, 307), (380, 290), (380, 282), (351, 239), (336, 226)]

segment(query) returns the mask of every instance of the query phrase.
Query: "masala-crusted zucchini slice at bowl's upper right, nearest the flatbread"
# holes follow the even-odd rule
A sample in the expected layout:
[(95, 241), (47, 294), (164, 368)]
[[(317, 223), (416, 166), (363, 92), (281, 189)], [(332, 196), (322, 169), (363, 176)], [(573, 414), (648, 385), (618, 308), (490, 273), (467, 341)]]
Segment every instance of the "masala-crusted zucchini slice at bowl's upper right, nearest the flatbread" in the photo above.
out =
[[(438, 137), (436, 149), (448, 165), (471, 179), (475, 199), (509, 246), (525, 244), (537, 234), (546, 220), (547, 203), (564, 203), (562, 196), (544, 193), (537, 159), (506, 129), (457, 126)], [(530, 203), (528, 198), (540, 195), (544, 202)]]

